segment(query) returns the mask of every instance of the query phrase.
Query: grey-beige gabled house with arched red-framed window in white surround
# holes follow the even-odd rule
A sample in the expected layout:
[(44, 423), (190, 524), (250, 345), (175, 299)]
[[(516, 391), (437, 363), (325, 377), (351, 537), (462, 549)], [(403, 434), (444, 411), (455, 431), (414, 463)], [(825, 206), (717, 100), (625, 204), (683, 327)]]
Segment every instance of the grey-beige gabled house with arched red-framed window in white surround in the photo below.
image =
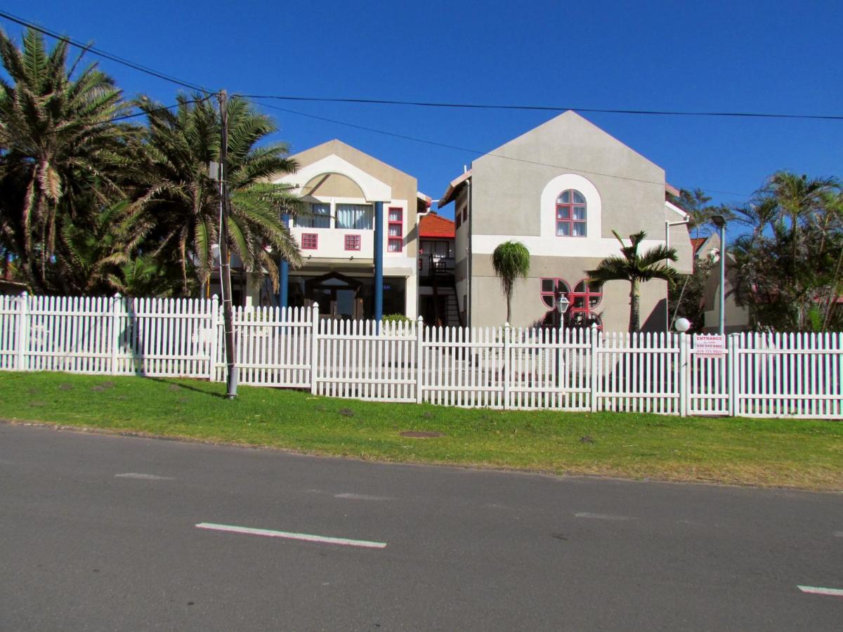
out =
[[(596, 323), (625, 330), (630, 284), (590, 285), (588, 270), (620, 254), (612, 231), (643, 230), (643, 249), (665, 241), (675, 265), (691, 271), (685, 212), (666, 201), (664, 170), (568, 111), (477, 158), (448, 185), (438, 206), (454, 202), (456, 290), (471, 326), (499, 325), (506, 300), (491, 265), (499, 244), (515, 240), (530, 252), (530, 271), (513, 293), (513, 325), (552, 324), (561, 294), (570, 301), (568, 326)], [(642, 327), (664, 330), (668, 287), (642, 284)]]

